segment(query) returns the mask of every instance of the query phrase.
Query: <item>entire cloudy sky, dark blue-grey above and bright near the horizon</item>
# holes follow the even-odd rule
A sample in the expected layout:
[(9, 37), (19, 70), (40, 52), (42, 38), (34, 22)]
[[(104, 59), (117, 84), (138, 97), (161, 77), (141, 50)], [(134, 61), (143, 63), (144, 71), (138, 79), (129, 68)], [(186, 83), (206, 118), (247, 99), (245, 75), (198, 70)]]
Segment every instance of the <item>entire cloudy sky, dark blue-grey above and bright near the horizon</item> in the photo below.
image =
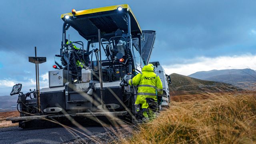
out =
[[(59, 54), (60, 15), (129, 4), (143, 30), (156, 30), (152, 61), (168, 74), (230, 68), (256, 70), (255, 0), (8, 0), (0, 1), (0, 96), (22, 83), (35, 85), (34, 64), (28, 56), (46, 56), (40, 64), (40, 85), (48, 86), (54, 54)], [(74, 38), (74, 37), (73, 37)]]

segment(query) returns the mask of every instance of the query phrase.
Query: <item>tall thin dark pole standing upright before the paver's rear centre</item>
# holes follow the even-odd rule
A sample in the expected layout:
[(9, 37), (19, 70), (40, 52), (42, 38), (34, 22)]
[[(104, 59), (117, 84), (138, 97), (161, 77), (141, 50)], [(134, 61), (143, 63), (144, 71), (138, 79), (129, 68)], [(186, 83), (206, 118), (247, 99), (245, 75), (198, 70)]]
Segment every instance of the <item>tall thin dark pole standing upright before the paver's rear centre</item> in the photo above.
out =
[(101, 105), (104, 109), (104, 102), (103, 102), (103, 84), (102, 84), (102, 62), (101, 62), (101, 48), (100, 48), (100, 29), (98, 29), (98, 38), (99, 38), (99, 50), (100, 50), (100, 68), (99, 68), (99, 76), (100, 76), (100, 97), (101, 97)]

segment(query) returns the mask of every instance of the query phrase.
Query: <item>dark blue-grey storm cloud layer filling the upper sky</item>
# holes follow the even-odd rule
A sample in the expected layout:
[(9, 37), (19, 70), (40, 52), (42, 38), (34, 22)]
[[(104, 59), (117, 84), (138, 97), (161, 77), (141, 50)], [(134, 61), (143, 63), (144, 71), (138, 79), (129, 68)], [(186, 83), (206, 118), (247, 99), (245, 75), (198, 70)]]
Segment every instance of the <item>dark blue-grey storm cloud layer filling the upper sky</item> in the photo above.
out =
[[(157, 40), (168, 43), (167, 51), (209, 49), (250, 41), (256, 27), (255, 1), (125, 1), (130, 4), (142, 29), (157, 31)], [(105, 1), (12, 1), (0, 10), (4, 20), (0, 50), (23, 51), (38, 46), (42, 54), (58, 52), (61, 41), (60, 14), (119, 4)], [(161, 44), (156, 43), (159, 46)], [(155, 46), (157, 48), (157, 45)], [(50, 53), (49, 53), (50, 52)], [(21, 52), (22, 53), (22, 52)]]

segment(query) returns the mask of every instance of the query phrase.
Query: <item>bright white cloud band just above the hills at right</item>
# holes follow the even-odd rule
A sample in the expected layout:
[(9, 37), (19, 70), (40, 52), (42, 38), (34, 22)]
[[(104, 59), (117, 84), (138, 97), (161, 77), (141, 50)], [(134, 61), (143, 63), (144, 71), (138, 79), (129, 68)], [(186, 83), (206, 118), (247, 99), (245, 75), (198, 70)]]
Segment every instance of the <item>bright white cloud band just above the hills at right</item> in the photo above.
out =
[(177, 73), (189, 75), (198, 71), (223, 70), (223, 69), (243, 69), (251, 68), (256, 70), (256, 55), (241, 56), (220, 56), (216, 58), (197, 57), (192, 59), (194, 63), (164, 65), (167, 74)]

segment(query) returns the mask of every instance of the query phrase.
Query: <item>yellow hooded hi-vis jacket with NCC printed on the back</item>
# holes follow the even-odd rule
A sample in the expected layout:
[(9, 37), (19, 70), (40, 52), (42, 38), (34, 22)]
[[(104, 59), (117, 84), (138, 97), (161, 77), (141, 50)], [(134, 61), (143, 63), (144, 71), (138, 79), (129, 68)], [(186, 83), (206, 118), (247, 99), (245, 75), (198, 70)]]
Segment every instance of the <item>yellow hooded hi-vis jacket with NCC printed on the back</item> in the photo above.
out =
[(138, 95), (135, 104), (142, 104), (142, 108), (148, 108), (146, 98), (153, 98), (157, 101), (156, 94), (162, 96), (163, 85), (159, 78), (154, 73), (154, 66), (148, 64), (142, 68), (142, 72), (129, 80), (129, 85), (138, 85)]

